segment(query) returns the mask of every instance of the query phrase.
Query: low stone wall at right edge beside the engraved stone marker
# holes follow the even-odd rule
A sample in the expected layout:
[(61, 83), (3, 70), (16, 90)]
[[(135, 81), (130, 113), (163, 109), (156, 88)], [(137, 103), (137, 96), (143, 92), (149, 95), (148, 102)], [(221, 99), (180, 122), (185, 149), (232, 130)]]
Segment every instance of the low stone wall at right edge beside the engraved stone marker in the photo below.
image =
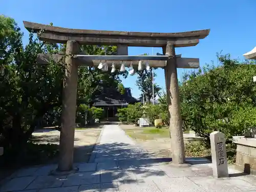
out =
[(236, 165), (247, 174), (256, 175), (256, 138), (233, 137), (237, 144)]

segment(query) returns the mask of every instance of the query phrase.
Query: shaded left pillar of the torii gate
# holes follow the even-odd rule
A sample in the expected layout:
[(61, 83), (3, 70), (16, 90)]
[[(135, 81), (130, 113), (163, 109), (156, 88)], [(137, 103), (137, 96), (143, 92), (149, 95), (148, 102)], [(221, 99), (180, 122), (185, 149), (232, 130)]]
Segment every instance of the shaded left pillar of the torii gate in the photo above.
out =
[(59, 141), (60, 157), (58, 171), (61, 172), (67, 172), (73, 169), (78, 66), (75, 58), (72, 58), (72, 54), (77, 54), (78, 52), (78, 43), (68, 40)]

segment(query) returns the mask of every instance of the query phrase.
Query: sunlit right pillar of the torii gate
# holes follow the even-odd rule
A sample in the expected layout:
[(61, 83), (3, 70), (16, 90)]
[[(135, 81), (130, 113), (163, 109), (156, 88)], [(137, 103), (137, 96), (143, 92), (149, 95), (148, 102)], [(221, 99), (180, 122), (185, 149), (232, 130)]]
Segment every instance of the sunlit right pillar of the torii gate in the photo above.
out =
[(182, 164), (185, 163), (185, 150), (174, 45), (166, 45), (165, 55), (169, 56), (165, 67), (165, 81), (168, 111), (170, 116), (169, 130), (172, 147), (172, 162), (174, 164)]

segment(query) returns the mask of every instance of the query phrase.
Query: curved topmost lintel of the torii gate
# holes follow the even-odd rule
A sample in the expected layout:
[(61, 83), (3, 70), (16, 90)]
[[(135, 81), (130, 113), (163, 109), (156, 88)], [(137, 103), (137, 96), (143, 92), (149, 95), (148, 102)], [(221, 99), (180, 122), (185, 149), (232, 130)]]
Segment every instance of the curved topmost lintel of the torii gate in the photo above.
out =
[[(68, 40), (75, 40), (85, 45), (164, 47), (166, 44), (174, 44), (175, 47), (188, 47), (196, 46), (199, 39), (205, 38), (210, 31), (207, 29), (180, 33), (125, 32), (68, 29), (25, 21), (23, 23), (28, 31), (37, 33), (41, 40), (62, 44)], [(40, 30), (42, 32), (39, 34)]]

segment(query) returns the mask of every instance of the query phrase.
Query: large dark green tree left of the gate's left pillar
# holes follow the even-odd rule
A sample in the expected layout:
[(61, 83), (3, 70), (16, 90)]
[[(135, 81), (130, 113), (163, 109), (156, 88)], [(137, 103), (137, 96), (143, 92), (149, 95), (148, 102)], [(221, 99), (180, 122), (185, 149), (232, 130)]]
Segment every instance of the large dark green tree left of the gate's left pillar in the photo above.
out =
[(39, 42), (30, 34), (23, 46), (23, 33), (13, 19), (1, 15), (0, 26), (0, 142), (19, 148), (44, 115), (61, 105), (63, 67), (36, 63), (38, 53), (56, 53), (57, 45)]

